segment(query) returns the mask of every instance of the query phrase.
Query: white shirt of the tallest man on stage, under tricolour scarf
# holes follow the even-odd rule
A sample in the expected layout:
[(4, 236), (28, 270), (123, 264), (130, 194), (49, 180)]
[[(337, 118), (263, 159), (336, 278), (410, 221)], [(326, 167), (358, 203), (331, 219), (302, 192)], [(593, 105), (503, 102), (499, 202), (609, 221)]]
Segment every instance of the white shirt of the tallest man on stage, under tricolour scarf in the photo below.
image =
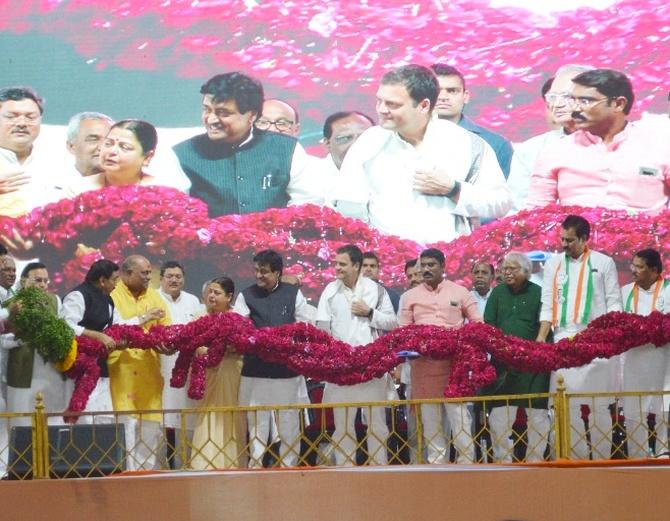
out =
[[(569, 257), (570, 270), (570, 285), (568, 287), (567, 295), (567, 317), (565, 328), (560, 325), (554, 327), (554, 340), (571, 337), (586, 329), (586, 325), (574, 322), (574, 308), (577, 296), (577, 282), (579, 280), (579, 270), (581, 268), (581, 261), (584, 258), (582, 254), (578, 259)], [(591, 313), (588, 321), (598, 318), (600, 315), (609, 313), (610, 311), (622, 311), (621, 290), (619, 288), (619, 281), (617, 277), (616, 265), (611, 257), (603, 255), (597, 251), (591, 251), (590, 254), (591, 269), (593, 273), (593, 295), (591, 300)], [(544, 282), (542, 284), (542, 311), (540, 312), (540, 320), (551, 322), (552, 310), (554, 307), (553, 287), (554, 276), (556, 270), (560, 269), (557, 279), (559, 291), (559, 309), (557, 310), (557, 317), (560, 320), (562, 308), (562, 288), (565, 282), (565, 255), (554, 255), (544, 266)], [(588, 269), (584, 271), (584, 281), (582, 289), (582, 302), (579, 309), (579, 316), (581, 317), (586, 301), (586, 288), (588, 282)]]

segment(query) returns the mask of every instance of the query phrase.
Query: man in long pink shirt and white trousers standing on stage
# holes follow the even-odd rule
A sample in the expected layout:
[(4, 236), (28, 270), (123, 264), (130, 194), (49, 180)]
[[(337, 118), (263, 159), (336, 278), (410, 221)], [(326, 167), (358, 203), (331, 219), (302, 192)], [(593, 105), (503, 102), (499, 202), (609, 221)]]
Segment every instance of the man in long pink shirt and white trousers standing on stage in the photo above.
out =
[[(482, 315), (470, 292), (444, 278), (444, 254), (435, 248), (421, 252), (420, 273), (423, 283), (403, 294), (400, 299), (398, 324), (435, 325), (457, 329), (465, 323), (481, 322)], [(412, 361), (412, 399), (444, 397), (449, 383), (451, 360), (419, 358)], [(449, 430), (453, 435), (458, 463), (472, 463), (475, 451), (472, 441), (472, 417), (466, 404), (421, 405), (424, 446), (428, 463), (449, 462)], [(442, 431), (446, 410), (449, 427)]]

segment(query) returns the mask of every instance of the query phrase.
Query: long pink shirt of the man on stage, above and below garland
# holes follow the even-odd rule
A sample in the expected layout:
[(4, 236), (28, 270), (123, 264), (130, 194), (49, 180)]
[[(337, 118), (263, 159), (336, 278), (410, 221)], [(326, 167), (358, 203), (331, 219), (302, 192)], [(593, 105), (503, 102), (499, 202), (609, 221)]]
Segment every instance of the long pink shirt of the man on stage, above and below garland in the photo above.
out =
[[(403, 294), (400, 299), (398, 322), (458, 328), (465, 319), (481, 322), (477, 301), (463, 286), (443, 280), (432, 289), (421, 284)], [(419, 358), (412, 361), (412, 398), (442, 398), (449, 383), (451, 360)]]

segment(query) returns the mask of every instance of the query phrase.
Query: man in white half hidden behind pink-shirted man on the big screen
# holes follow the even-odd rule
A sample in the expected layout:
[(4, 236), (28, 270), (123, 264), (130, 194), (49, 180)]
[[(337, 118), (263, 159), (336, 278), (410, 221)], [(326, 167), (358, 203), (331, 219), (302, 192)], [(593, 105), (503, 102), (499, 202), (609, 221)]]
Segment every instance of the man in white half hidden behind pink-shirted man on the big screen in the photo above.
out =
[(572, 64), (563, 65), (556, 71), (548, 89), (545, 90), (546, 82), (542, 86), (545, 119), (546, 113), (550, 114), (552, 123), (556, 127), (514, 146), (512, 166), (507, 178), (507, 186), (514, 196), (512, 212), (518, 212), (526, 207), (530, 177), (542, 151), (574, 131), (572, 111), (567, 104), (572, 88), (572, 78), (588, 70), (591, 70), (591, 67)]

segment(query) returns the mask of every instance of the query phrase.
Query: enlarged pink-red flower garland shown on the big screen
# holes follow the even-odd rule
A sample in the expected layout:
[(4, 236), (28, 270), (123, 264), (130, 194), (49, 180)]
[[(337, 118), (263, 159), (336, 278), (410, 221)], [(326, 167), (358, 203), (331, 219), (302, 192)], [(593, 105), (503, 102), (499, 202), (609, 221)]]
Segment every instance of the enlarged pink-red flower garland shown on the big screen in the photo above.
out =
[[(670, 211), (633, 216), (620, 210), (560, 205), (522, 211), (451, 243), (430, 246), (458, 252), (447, 257), (445, 269), (451, 280), (467, 285), (474, 259), (498, 263), (511, 250), (555, 251), (559, 223), (569, 213), (588, 219), (590, 246), (620, 263), (628, 263), (642, 248), (670, 250)], [(0, 233), (11, 235), (12, 228), (36, 244), (36, 255), (62, 266), (51, 274), (55, 287), (62, 290), (79, 284), (94, 260), (118, 262), (131, 253), (204, 261), (243, 280), (249, 273), (241, 259), (272, 248), (284, 254), (284, 271), (301, 277), (305, 295), (316, 298), (333, 280), (331, 260), (343, 244), (377, 252), (385, 270), (382, 282), (391, 287), (404, 285), (404, 262), (423, 249), (414, 241), (383, 235), (361, 221), (314, 205), (211, 219), (202, 201), (159, 186), (108, 187), (23, 217), (0, 217)], [(670, 270), (670, 258), (665, 268)]]

